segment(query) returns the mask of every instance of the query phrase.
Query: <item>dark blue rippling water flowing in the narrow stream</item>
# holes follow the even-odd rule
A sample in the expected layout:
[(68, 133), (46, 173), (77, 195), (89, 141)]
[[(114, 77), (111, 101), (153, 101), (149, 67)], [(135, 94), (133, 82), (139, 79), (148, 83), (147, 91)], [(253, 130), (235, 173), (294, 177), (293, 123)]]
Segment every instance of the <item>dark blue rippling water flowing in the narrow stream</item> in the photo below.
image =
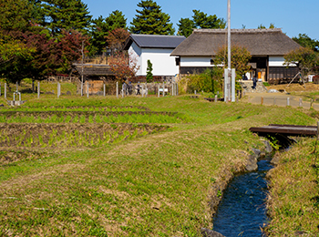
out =
[(213, 219), (213, 231), (226, 237), (262, 236), (261, 227), (268, 222), (265, 176), (272, 168), (269, 160), (260, 160), (257, 171), (233, 178)]

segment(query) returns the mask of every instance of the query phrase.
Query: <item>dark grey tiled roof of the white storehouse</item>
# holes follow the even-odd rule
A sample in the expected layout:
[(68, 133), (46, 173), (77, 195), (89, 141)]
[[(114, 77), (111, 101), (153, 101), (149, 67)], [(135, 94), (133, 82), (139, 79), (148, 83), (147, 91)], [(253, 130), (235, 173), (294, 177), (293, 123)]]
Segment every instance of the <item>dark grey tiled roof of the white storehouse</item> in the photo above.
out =
[(185, 39), (185, 36), (135, 35), (129, 36), (124, 49), (128, 50), (133, 42), (139, 47), (175, 48)]

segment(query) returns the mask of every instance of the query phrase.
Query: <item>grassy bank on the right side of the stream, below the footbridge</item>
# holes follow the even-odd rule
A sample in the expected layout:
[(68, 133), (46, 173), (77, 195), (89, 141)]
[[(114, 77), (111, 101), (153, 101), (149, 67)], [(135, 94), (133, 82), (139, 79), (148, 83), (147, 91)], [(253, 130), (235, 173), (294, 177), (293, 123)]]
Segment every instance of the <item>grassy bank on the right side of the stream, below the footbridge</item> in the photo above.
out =
[[(314, 139), (301, 139), (271, 171), (268, 236), (319, 236), (319, 154)], [(316, 149), (318, 150), (318, 148)]]

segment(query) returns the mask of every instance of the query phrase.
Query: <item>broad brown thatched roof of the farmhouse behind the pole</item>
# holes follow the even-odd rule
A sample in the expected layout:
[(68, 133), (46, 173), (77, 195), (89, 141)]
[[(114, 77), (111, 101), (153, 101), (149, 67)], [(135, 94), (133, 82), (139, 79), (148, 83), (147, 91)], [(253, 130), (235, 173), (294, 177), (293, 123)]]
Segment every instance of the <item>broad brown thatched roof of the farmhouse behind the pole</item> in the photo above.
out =
[[(227, 46), (227, 29), (194, 29), (170, 56), (215, 56)], [(253, 56), (283, 56), (300, 47), (281, 29), (232, 29), (232, 46), (246, 47)]]

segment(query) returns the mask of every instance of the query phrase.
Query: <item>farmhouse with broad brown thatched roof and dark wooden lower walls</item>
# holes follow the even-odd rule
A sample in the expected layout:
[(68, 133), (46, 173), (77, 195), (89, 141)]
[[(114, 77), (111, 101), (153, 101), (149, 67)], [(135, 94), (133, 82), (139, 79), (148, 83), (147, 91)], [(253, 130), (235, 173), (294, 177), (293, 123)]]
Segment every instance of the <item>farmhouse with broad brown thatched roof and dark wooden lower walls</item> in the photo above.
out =
[[(170, 56), (179, 57), (179, 74), (187, 75), (214, 67), (214, 57), (223, 46), (227, 46), (227, 29), (194, 29)], [(293, 78), (299, 71), (283, 65), (283, 56), (300, 46), (281, 29), (232, 29), (232, 46), (244, 46), (251, 53), (249, 79), (272, 82)]]

